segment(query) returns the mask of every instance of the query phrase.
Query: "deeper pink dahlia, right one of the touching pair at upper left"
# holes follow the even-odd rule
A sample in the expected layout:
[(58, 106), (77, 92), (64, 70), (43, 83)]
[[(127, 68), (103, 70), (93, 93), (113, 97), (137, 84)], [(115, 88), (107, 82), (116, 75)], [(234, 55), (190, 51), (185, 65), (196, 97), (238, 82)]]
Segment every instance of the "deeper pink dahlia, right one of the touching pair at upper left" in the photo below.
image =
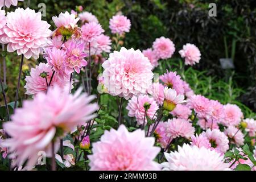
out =
[(66, 72), (70, 74), (75, 70), (80, 73), (80, 69), (87, 65), (87, 61), (84, 59), (87, 56), (84, 53), (85, 43), (71, 39), (65, 42), (64, 45), (67, 51), (67, 59), (65, 60)]

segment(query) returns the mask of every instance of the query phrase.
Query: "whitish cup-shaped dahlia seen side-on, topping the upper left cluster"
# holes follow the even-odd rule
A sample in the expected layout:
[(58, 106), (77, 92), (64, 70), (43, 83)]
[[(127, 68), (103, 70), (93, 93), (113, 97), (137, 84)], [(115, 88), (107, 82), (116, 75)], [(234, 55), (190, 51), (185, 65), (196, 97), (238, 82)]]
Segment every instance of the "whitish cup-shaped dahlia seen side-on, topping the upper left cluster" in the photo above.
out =
[(68, 11), (65, 13), (60, 13), (59, 16), (52, 17), (53, 22), (57, 28), (60, 27), (75, 27), (79, 18), (76, 18), (74, 14), (69, 14)]

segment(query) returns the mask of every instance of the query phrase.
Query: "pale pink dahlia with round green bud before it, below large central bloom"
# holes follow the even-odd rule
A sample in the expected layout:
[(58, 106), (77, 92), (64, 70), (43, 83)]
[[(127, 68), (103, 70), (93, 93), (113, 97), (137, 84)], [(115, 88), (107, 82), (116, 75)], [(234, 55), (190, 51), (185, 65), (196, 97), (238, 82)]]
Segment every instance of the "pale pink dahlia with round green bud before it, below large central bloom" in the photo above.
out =
[[(144, 96), (133, 96), (131, 100), (129, 100), (128, 105), (126, 107), (129, 117), (135, 117), (138, 125), (143, 125), (144, 123), (144, 114), (145, 109), (144, 105), (150, 105), (149, 109), (146, 111), (146, 115), (154, 119), (154, 115), (156, 113), (156, 110), (159, 109), (158, 104), (156, 104), (156, 101), (152, 97), (148, 97), (147, 95)], [(147, 118), (145, 118), (145, 125), (147, 123)]]

